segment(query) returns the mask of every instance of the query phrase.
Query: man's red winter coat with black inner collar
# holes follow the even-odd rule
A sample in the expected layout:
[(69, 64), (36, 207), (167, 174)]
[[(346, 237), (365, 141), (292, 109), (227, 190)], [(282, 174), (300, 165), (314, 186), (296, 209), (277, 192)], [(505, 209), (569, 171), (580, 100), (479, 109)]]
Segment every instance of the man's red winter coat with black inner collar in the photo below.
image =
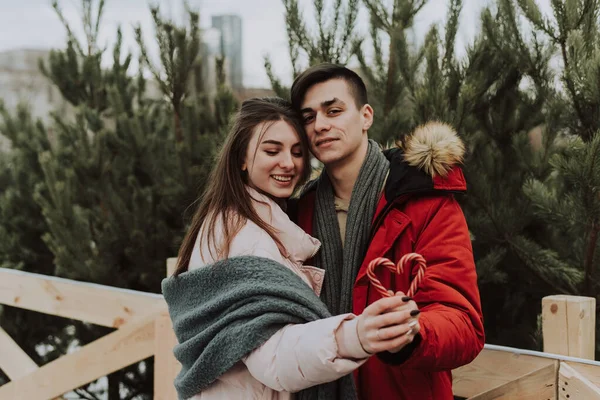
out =
[[(390, 175), (379, 201), (372, 239), (353, 291), (353, 312), (381, 298), (366, 275), (369, 262), (387, 257), (397, 263), (416, 252), (427, 272), (414, 300), (421, 312), (420, 335), (397, 354), (380, 353), (358, 371), (362, 400), (453, 399), (451, 370), (471, 362), (484, 345), (483, 317), (467, 224), (453, 193), (466, 190), (462, 171), (436, 178), (409, 166), (399, 149), (386, 152)], [(314, 190), (298, 202), (298, 224), (313, 234)], [(406, 293), (413, 271), (377, 271), (381, 283)], [(327, 278), (326, 278), (327, 279)]]

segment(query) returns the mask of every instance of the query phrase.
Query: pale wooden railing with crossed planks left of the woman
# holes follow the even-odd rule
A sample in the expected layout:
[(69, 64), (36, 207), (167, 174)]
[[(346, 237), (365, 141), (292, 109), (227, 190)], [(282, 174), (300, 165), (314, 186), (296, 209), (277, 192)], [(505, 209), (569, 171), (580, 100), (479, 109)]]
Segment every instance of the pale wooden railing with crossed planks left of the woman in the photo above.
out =
[(0, 268), (0, 304), (117, 328), (38, 367), (0, 327), (0, 369), (11, 380), (0, 386), (0, 400), (60, 398), (151, 356), (154, 398), (177, 399), (176, 340), (161, 295)]

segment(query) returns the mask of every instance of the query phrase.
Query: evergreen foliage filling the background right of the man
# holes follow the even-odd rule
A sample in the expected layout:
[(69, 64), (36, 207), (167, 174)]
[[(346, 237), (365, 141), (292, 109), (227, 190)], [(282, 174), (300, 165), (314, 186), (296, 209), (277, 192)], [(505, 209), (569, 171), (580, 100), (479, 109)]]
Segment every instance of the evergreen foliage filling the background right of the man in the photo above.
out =
[[(375, 110), (370, 136), (387, 146), (430, 120), (457, 129), (468, 146), (469, 191), (460, 201), (487, 341), (541, 349), (541, 298), (596, 296), (599, 289), (600, 5), (554, 1), (553, 15), (545, 16), (535, 0), (495, 0), (457, 56), (461, 0), (448, 2), (445, 24), (431, 26), (423, 40), (415, 21), (427, 0), (362, 3), (370, 25), (352, 55)], [(306, 28), (290, 17), (300, 11), (286, 11), (290, 49), (310, 48), (298, 39)]]

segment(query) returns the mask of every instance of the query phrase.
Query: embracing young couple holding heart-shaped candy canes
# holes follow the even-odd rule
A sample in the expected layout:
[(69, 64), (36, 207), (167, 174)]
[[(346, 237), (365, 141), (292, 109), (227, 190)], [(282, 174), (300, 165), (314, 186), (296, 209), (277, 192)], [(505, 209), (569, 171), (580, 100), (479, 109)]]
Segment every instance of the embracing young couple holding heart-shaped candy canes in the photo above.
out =
[[(361, 78), (309, 68), (246, 100), (163, 293), (182, 399), (452, 399), (451, 370), (484, 344), (467, 225), (464, 146), (430, 123), (382, 151)], [(309, 151), (324, 169), (310, 175)], [(417, 269), (366, 269), (407, 253)]]

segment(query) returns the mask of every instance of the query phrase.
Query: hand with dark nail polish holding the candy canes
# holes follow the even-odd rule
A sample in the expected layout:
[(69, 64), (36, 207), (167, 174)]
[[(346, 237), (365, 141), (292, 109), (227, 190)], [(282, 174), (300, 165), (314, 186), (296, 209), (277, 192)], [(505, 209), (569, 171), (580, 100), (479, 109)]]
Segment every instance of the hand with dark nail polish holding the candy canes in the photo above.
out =
[(402, 350), (421, 329), (419, 313), (417, 304), (402, 292), (369, 305), (358, 317), (357, 324), (364, 350), (371, 354)]

